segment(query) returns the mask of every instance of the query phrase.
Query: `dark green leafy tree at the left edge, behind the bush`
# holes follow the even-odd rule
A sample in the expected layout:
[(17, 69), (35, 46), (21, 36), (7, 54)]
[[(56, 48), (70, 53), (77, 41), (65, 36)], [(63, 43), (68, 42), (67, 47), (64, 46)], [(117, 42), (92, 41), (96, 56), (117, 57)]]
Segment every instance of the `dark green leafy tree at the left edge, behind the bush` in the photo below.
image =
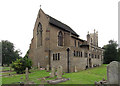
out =
[(14, 44), (7, 41), (2, 40), (2, 65), (3, 64), (11, 64), (12, 61), (15, 61), (17, 58), (21, 58), (20, 50), (14, 49)]

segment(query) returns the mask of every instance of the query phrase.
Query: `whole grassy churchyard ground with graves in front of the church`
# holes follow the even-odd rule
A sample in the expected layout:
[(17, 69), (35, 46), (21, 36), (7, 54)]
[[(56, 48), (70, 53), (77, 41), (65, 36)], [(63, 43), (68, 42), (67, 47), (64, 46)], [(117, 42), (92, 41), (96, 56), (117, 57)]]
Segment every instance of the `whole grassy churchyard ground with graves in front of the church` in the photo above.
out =
[[(94, 84), (95, 81), (98, 82), (103, 78), (105, 80), (107, 79), (106, 67), (107, 65), (103, 64), (100, 67), (95, 67), (92, 69), (87, 69), (74, 73), (63, 73), (62, 76), (61, 69), (55, 71), (54, 68), (52, 68), (51, 72), (49, 70), (32, 68), (27, 75), (27, 79), (26, 74), (16, 74), (13, 69), (9, 71), (9, 67), (3, 67), (2, 76), (0, 75), (0, 78), (2, 78), (2, 84), (20, 84), (28, 82), (31, 84), (48, 84), (48, 82), (51, 82), (51, 80), (56, 80), (56, 78), (64, 78), (66, 80), (65, 82), (61, 82), (58, 84)], [(59, 72), (58, 76), (54, 74), (56, 72)]]

